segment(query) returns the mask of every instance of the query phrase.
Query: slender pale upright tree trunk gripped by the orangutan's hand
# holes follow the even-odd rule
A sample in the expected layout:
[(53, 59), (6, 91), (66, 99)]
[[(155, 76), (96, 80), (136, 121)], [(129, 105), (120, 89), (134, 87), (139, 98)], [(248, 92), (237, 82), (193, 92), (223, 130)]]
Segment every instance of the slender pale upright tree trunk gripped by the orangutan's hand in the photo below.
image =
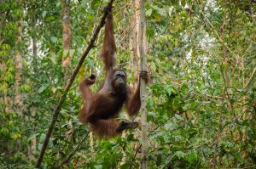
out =
[[(141, 58), (141, 69), (146, 70), (145, 65), (145, 8), (144, 0), (140, 0), (140, 20), (139, 20), (139, 31), (138, 31), (138, 45), (139, 54)], [(148, 151), (148, 125), (147, 125), (147, 110), (146, 110), (146, 84), (143, 79), (141, 81), (141, 101), (142, 101), (142, 161), (141, 168), (147, 168), (147, 151)]]

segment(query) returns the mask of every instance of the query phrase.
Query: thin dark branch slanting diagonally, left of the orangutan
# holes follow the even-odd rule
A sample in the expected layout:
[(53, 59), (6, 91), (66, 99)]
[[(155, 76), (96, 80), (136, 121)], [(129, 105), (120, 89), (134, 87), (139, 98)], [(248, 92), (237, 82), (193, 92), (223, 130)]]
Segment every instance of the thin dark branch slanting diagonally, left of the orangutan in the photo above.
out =
[(41, 166), (41, 163), (42, 163), (43, 158), (44, 158), (45, 150), (46, 150), (46, 148), (47, 148), (47, 146), (49, 144), (50, 135), (53, 132), (53, 128), (55, 126), (55, 122), (56, 122), (56, 120), (57, 120), (57, 118), (58, 118), (58, 116), (60, 114), (60, 111), (61, 111), (61, 105), (66, 100), (67, 92), (69, 91), (70, 87), (72, 86), (72, 83), (73, 83), (75, 77), (78, 75), (79, 70), (80, 70), (81, 66), (83, 65), (83, 63), (84, 63), (84, 59), (89, 54), (90, 49), (94, 47), (94, 42), (96, 41), (96, 37), (99, 34), (99, 31), (102, 29), (102, 26), (105, 24), (105, 19), (107, 18), (107, 15), (108, 15), (108, 8), (112, 7), (112, 3), (113, 3), (113, 0), (110, 0), (110, 2), (108, 3), (108, 6), (105, 8), (105, 11), (104, 11), (104, 14), (102, 16), (102, 20), (101, 20), (100, 24), (96, 27), (96, 31), (94, 32), (93, 36), (90, 38), (90, 43), (89, 43), (88, 47), (86, 48), (86, 50), (84, 51), (83, 56), (79, 60), (79, 65), (77, 65), (75, 70), (73, 70), (73, 74), (72, 74), (71, 78), (69, 79), (69, 82), (68, 82), (67, 86), (65, 87), (65, 91), (64, 91), (64, 93), (61, 96), (59, 104), (55, 108), (55, 112), (52, 115), (52, 119), (51, 119), (51, 122), (49, 124), (49, 128), (48, 128), (47, 134), (46, 134), (46, 136), (44, 138), (44, 144), (42, 146), (40, 155), (38, 157), (37, 164), (35, 166), (36, 168), (39, 168)]

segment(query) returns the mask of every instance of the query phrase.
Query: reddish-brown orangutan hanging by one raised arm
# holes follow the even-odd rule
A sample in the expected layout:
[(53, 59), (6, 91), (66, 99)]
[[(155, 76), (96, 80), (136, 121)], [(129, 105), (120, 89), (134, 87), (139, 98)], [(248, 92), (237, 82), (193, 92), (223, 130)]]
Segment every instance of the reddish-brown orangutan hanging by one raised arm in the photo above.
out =
[(96, 76), (93, 75), (80, 83), (80, 91), (85, 103), (79, 121), (89, 123), (92, 131), (100, 138), (113, 138), (125, 129), (137, 127), (134, 124), (136, 122), (118, 122), (114, 118), (119, 115), (124, 104), (129, 115), (137, 115), (141, 107), (140, 84), (134, 93), (126, 84), (125, 72), (113, 69), (115, 53), (113, 15), (110, 12), (106, 19), (105, 37), (100, 55), (107, 72), (103, 87), (97, 93), (90, 91), (90, 85), (96, 80)]

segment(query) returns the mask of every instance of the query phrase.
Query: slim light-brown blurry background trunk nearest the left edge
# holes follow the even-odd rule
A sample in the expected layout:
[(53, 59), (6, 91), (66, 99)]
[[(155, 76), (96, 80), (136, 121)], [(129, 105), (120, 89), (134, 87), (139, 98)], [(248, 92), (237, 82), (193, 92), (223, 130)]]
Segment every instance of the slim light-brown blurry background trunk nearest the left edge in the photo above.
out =
[[(21, 31), (22, 31), (22, 20), (19, 22), (18, 27), (18, 37), (17, 37), (17, 48), (15, 52), (15, 105), (20, 108), (21, 105), (21, 93), (20, 93), (20, 84), (21, 84), (21, 70), (22, 70), (22, 57), (20, 54), (20, 42)], [(21, 115), (20, 109), (17, 109), (17, 113)]]

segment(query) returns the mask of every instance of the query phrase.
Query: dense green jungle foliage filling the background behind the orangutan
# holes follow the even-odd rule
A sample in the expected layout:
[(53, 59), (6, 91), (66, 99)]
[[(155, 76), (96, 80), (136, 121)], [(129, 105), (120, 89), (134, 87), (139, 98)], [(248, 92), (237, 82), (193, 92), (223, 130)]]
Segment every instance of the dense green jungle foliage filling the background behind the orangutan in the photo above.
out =
[[(138, 2), (113, 1), (117, 65), (131, 86), (139, 70)], [(34, 168), (107, 3), (0, 1), (0, 168)], [(148, 168), (256, 168), (255, 1), (148, 0), (145, 14)], [(96, 91), (105, 76), (103, 30), (62, 104), (42, 168), (140, 167), (140, 126), (97, 139), (78, 120), (79, 82), (96, 73)], [(124, 109), (119, 119), (126, 118)]]

